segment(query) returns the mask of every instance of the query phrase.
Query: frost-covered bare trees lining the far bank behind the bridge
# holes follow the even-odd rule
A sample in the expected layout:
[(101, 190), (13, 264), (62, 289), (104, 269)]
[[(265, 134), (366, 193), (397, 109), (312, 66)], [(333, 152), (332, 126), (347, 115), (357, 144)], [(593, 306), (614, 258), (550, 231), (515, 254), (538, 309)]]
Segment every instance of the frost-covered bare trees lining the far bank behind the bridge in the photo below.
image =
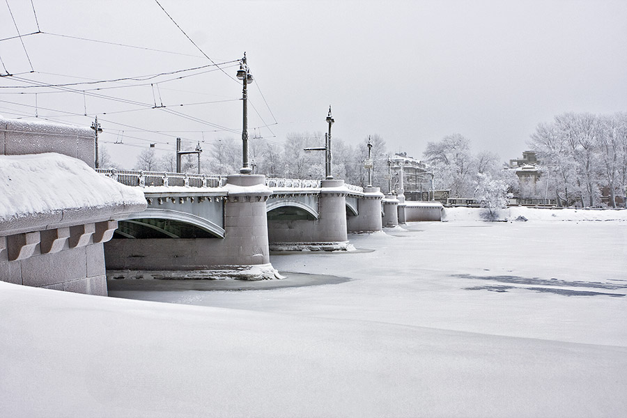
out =
[[(385, 140), (371, 134), (358, 144), (332, 140), (332, 174), (346, 183), (365, 186), (368, 141), (372, 144), (373, 185), (389, 192)], [(284, 144), (249, 140), (249, 161), (254, 173), (267, 177), (320, 179), (325, 173), (325, 153), (304, 148), (323, 146), (322, 132), (286, 135)], [(472, 153), (471, 142), (460, 134), (429, 141), (423, 153), (433, 173), (433, 188), (449, 190), (451, 197), (474, 198), (484, 206), (504, 206), (511, 194), (522, 198), (555, 199), (560, 206), (600, 206), (601, 189), (607, 187), (610, 206), (624, 196), (627, 185), (627, 114), (566, 113), (550, 123), (539, 123), (527, 146), (536, 151), (541, 173), (537, 183), (519, 183), (509, 165), (490, 151)], [(241, 141), (222, 138), (205, 144), (203, 173), (238, 173), (242, 164)], [(193, 146), (189, 146), (192, 150)], [(106, 153), (103, 153), (106, 157)], [(196, 155), (183, 157), (183, 170), (195, 172)], [(102, 167), (102, 166), (101, 166)], [(174, 153), (157, 157), (154, 148), (141, 152), (135, 169), (174, 171)], [(392, 189), (394, 189), (392, 182)]]

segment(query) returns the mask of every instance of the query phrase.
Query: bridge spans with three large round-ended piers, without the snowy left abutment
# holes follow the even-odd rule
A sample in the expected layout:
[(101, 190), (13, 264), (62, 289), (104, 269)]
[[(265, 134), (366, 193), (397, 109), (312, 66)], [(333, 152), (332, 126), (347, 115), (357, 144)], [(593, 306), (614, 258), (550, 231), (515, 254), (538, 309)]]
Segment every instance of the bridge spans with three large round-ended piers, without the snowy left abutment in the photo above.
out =
[[(382, 230), (383, 194), (343, 180), (97, 169), (141, 187), (148, 207), (118, 219), (107, 270), (269, 265), (270, 249), (344, 250)], [(173, 242), (172, 240), (176, 240)]]

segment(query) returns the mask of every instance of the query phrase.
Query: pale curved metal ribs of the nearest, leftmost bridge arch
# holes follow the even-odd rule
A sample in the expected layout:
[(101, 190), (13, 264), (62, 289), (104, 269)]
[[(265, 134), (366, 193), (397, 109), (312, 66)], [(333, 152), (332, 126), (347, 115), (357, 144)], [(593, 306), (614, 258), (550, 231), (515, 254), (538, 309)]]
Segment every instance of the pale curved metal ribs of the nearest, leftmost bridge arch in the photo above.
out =
[[(136, 225), (141, 224), (141, 226), (145, 226), (148, 229), (152, 229), (154, 231), (162, 233), (162, 235), (167, 236), (169, 238), (180, 238), (176, 236), (176, 234), (171, 233), (171, 231), (167, 231), (167, 229), (164, 229), (155, 224), (141, 222), (139, 221), (139, 219), (165, 219), (169, 221), (180, 222), (181, 224), (186, 224), (189, 226), (193, 226), (197, 229), (201, 229), (202, 231), (205, 231), (209, 233), (210, 235), (215, 236), (217, 238), (224, 238), (224, 234), (225, 234), (224, 228), (222, 228), (222, 226), (219, 226), (209, 221), (208, 219), (205, 219), (203, 217), (199, 217), (196, 215), (192, 215), (191, 213), (179, 212), (178, 210), (171, 210), (171, 209), (148, 208), (144, 210), (144, 212), (136, 212), (136, 213), (127, 215), (119, 219), (118, 222), (119, 223), (129, 222), (130, 224), (136, 224)], [(125, 236), (126, 238), (134, 238), (131, 235), (124, 233), (123, 231), (116, 231), (116, 233), (122, 236)]]

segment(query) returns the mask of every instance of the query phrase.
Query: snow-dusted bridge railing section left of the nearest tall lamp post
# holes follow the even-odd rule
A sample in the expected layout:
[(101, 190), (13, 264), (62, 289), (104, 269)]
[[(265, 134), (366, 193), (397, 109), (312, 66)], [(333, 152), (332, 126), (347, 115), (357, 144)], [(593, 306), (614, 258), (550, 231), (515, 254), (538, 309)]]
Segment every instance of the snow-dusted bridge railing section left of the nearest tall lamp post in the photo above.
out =
[(95, 169), (127, 186), (221, 187), (226, 177), (215, 174), (167, 173), (164, 171)]

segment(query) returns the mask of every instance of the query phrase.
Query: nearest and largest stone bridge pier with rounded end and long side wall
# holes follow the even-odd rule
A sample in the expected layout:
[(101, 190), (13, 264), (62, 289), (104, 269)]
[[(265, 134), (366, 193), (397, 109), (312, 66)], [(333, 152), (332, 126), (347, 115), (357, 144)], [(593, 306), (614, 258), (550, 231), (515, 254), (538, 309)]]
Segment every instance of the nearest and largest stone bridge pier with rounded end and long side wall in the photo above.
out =
[[(152, 277), (180, 279), (234, 277), (258, 280), (275, 276), (276, 270), (270, 264), (265, 210), (265, 202), (272, 190), (265, 186), (265, 176), (228, 176), (222, 192), (199, 192), (189, 188), (187, 193), (177, 193), (181, 196), (173, 200), (180, 203), (173, 205), (181, 206), (180, 212), (206, 216), (209, 212), (198, 209), (199, 206), (222, 202), (224, 215), (220, 222), (224, 222), (223, 235), (215, 238), (131, 237), (111, 240), (104, 247), (108, 277), (139, 277), (144, 272)], [(216, 193), (220, 196), (215, 196)], [(160, 196), (157, 192), (150, 192), (150, 195)], [(203, 195), (211, 197), (201, 199)], [(149, 199), (153, 203), (146, 212), (150, 212), (155, 201), (162, 199)], [(146, 216), (137, 213), (130, 219)]]

